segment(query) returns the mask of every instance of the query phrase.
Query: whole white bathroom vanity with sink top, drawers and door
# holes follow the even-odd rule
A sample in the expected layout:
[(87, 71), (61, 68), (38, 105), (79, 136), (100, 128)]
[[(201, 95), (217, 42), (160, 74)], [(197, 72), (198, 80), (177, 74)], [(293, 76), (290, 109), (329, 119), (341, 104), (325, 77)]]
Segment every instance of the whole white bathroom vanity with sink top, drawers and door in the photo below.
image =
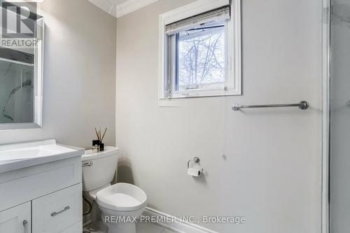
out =
[(0, 146), (0, 232), (80, 233), (83, 153), (55, 140)]

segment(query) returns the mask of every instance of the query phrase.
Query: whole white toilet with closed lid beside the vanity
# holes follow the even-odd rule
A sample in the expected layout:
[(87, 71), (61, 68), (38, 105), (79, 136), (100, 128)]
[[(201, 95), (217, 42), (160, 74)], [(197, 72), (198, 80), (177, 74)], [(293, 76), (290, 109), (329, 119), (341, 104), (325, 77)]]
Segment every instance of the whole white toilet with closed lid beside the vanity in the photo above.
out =
[(147, 196), (135, 185), (111, 185), (118, 164), (118, 148), (106, 146), (100, 153), (87, 150), (82, 161), (83, 191), (95, 201), (91, 211), (93, 225), (108, 233), (136, 233), (134, 219), (145, 211)]

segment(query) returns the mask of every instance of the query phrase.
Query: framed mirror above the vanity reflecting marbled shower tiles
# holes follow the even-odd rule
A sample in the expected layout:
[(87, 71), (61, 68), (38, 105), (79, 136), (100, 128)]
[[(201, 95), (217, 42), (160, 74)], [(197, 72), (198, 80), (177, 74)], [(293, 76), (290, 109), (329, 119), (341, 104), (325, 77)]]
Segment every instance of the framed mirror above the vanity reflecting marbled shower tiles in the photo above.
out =
[[(43, 17), (12, 4), (2, 5), (1, 13), (6, 14), (2, 18), (7, 24), (1, 22), (0, 130), (41, 127)], [(13, 27), (14, 23), (20, 27)]]

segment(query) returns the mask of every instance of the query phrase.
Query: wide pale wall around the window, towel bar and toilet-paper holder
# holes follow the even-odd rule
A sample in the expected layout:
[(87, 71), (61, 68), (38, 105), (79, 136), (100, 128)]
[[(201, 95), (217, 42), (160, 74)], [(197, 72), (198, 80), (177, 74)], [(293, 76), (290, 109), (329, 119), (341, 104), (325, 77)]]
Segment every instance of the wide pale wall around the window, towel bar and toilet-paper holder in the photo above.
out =
[[(190, 2), (161, 0), (117, 20), (118, 180), (174, 216), (246, 217), (204, 225), (218, 232), (320, 232), (321, 1), (243, 0), (244, 94), (159, 107), (158, 15)], [(301, 100), (309, 110), (230, 110)], [(194, 156), (203, 178), (186, 174)]]

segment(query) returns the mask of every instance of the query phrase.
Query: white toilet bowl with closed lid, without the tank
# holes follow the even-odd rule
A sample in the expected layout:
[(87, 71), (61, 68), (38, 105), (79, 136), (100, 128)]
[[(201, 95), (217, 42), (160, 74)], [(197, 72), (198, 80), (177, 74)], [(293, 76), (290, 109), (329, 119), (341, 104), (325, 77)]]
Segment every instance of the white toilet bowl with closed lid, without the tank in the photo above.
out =
[(128, 183), (117, 183), (99, 190), (97, 204), (109, 233), (136, 233), (136, 220), (146, 209), (146, 193)]

